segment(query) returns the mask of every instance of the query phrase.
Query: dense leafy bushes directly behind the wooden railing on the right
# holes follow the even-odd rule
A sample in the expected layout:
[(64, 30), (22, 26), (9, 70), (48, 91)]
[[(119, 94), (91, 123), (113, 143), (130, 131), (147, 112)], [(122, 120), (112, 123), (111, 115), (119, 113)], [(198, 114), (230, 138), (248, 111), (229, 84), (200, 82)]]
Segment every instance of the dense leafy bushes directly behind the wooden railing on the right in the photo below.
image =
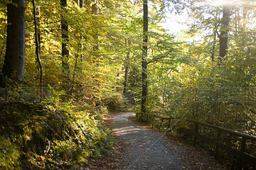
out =
[(159, 78), (152, 109), (254, 134), (254, 57), (236, 53), (220, 66), (204, 54), (190, 53), (189, 62)]

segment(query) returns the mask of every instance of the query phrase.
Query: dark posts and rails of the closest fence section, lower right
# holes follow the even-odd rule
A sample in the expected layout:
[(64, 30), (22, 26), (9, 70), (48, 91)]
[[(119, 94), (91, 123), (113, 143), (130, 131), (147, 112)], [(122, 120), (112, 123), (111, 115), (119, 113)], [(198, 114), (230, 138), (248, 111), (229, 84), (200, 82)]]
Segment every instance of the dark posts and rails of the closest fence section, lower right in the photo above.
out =
[[(250, 134), (246, 134), (243, 132), (237, 132), (234, 130), (231, 130), (229, 128), (223, 128), (217, 125), (210, 125), (207, 123), (202, 123), (199, 121), (189, 121), (190, 123), (193, 123), (192, 128), (190, 126), (189, 129), (185, 129), (184, 132), (186, 132), (187, 134), (189, 134), (190, 136), (192, 136), (192, 142), (193, 142), (193, 146), (195, 146), (197, 144), (197, 138), (202, 139), (210, 144), (214, 144), (214, 147), (216, 147), (215, 149), (215, 158), (217, 160), (220, 159), (220, 150), (222, 148), (223, 151), (225, 151), (226, 153), (229, 154), (233, 154), (236, 157), (236, 162), (235, 162), (235, 168), (236, 169), (246, 169), (249, 168), (247, 166), (250, 166), (250, 168), (254, 168), (256, 169), (256, 156), (252, 155), (249, 152), (249, 149), (246, 148), (246, 142), (248, 142), (248, 140), (250, 140), (251, 142), (255, 142), (256, 141), (256, 136), (250, 135)], [(199, 127), (200, 125), (200, 127)], [(214, 128), (217, 130), (217, 136), (215, 136), (213, 138), (213, 136), (204, 136), (204, 134), (200, 131), (200, 129), (204, 129), (205, 127), (210, 127), (210, 128)], [(216, 132), (216, 131), (215, 131)], [(234, 135), (234, 136), (238, 136), (239, 137), (239, 144), (240, 144), (240, 149), (239, 148), (233, 148), (232, 146), (230, 146), (230, 144), (225, 144), (222, 142), (222, 133), (226, 132), (230, 135)], [(202, 133), (202, 134), (200, 134)], [(234, 144), (235, 141), (233, 141)]]

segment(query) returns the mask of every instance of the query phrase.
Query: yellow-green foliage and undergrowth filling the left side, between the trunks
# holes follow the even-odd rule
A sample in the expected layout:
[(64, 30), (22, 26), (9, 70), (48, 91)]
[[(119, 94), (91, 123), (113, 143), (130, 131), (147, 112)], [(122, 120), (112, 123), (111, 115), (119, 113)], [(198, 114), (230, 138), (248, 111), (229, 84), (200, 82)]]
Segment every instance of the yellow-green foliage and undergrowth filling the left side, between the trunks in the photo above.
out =
[[(108, 110), (127, 109), (127, 101), (122, 97), (124, 61), (130, 68), (127, 99), (134, 104), (139, 101), (142, 2), (104, 0), (97, 4), (85, 2), (80, 7), (68, 0), (64, 10), (59, 0), (35, 2), (45, 98), (34, 106), (31, 104), (36, 100), (26, 102), (22, 98), (38, 100), (41, 95), (33, 6), (26, 1), (26, 64), (22, 87), (14, 89), (10, 82), (9, 98), (0, 104), (2, 142), (13, 148), (10, 151), (17, 151), (5, 157), (6, 164), (16, 157), (13, 164), (5, 166), (78, 169), (90, 159), (106, 155), (114, 143), (102, 121)], [(174, 62), (175, 45), (173, 38), (158, 26), (162, 7), (161, 1), (154, 1), (150, 7), (149, 58), (152, 64), (168, 63), (167, 69)], [(62, 39), (62, 18), (69, 27), (65, 33), (69, 38), (65, 40)], [(0, 1), (0, 22), (1, 69), (6, 48), (6, 2), (3, 1)], [(70, 52), (65, 59), (68, 72), (63, 71), (62, 42)]]

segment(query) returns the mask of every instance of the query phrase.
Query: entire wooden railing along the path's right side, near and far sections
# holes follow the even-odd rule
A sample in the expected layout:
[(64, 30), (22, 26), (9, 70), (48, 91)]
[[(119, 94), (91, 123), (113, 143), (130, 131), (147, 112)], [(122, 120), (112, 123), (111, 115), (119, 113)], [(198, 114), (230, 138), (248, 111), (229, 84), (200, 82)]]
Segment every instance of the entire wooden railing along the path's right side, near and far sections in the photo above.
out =
[[(175, 120), (174, 117), (161, 117), (148, 113), (137, 113), (136, 116), (138, 117), (138, 120), (143, 117), (145, 121), (146, 118), (146, 123), (150, 123), (152, 128), (154, 128), (154, 125), (158, 124), (158, 129), (162, 128), (163, 121), (165, 120), (168, 122), (166, 124), (166, 129), (169, 129), (171, 126), (173, 126), (170, 124), (170, 122)], [(150, 117), (153, 117), (153, 119), (151, 118), (150, 120)], [(158, 117), (160, 121), (155, 122), (155, 117)], [(178, 120), (176, 119), (175, 122), (177, 123), (177, 121)], [(193, 146), (197, 145), (199, 140), (207, 144), (212, 144), (214, 145), (214, 157), (216, 160), (218, 160), (220, 152), (226, 151), (226, 153), (232, 154), (236, 157), (238, 169), (256, 169), (256, 149), (254, 151), (255, 153), (250, 152), (248, 149), (249, 145), (252, 146), (251, 148), (256, 148), (256, 136), (243, 132), (237, 132), (217, 125), (202, 123), (200, 121), (186, 120), (186, 124), (190, 124), (190, 128), (179, 126), (178, 131), (191, 136)], [(208, 136), (206, 136), (207, 134)], [(231, 136), (235, 137), (235, 139), (233, 139), (234, 141), (232, 141)], [(227, 140), (232, 141), (233, 147), (226, 144)]]

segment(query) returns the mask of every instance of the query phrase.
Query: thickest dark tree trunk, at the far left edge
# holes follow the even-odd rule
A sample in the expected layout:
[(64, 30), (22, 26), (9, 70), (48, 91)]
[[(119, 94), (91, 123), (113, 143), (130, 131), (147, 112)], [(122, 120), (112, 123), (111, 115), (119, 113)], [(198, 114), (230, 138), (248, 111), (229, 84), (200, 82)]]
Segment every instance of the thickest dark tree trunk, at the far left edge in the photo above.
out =
[(6, 57), (0, 82), (2, 87), (6, 86), (6, 78), (22, 83), (25, 65), (25, 0), (12, 2), (7, 4)]

